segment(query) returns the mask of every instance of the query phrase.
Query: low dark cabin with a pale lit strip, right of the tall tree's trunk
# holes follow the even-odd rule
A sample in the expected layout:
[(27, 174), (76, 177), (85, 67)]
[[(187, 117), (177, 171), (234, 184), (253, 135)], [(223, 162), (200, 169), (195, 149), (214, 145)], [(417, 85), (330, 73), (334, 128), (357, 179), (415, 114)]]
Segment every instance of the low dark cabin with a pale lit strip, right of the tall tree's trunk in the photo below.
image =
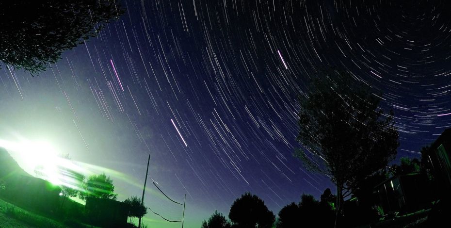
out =
[(430, 203), (428, 179), (426, 174), (411, 173), (392, 177), (374, 188), (374, 201), (389, 212), (416, 212)]

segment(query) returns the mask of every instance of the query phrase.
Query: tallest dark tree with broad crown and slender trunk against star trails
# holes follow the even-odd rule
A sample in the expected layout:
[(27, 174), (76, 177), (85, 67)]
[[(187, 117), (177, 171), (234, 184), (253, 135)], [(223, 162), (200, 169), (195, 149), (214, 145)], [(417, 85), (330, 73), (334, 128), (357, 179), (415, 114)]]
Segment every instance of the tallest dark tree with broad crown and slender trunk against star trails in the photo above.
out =
[(396, 156), (393, 113), (384, 114), (379, 101), (369, 86), (337, 70), (313, 79), (308, 92), (299, 97), (297, 141), (303, 148), (295, 156), (336, 184), (336, 220), (343, 198), (357, 183)]

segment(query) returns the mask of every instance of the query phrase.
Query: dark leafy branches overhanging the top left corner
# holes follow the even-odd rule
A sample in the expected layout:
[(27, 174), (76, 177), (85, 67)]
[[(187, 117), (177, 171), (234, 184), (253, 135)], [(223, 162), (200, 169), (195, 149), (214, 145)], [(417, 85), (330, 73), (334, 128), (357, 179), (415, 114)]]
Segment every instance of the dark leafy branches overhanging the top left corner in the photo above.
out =
[(32, 74), (124, 13), (111, 0), (0, 1), (0, 61)]

